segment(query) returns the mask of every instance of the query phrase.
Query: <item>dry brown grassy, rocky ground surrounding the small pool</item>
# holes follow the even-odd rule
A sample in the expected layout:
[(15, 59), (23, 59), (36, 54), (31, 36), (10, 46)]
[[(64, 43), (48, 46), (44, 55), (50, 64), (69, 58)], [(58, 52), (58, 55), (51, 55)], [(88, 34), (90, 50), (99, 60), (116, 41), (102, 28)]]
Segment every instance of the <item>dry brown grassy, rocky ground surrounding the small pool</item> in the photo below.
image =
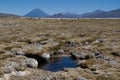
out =
[[(37, 68), (61, 54), (76, 68)], [(0, 18), (0, 80), (120, 80), (120, 20)]]

